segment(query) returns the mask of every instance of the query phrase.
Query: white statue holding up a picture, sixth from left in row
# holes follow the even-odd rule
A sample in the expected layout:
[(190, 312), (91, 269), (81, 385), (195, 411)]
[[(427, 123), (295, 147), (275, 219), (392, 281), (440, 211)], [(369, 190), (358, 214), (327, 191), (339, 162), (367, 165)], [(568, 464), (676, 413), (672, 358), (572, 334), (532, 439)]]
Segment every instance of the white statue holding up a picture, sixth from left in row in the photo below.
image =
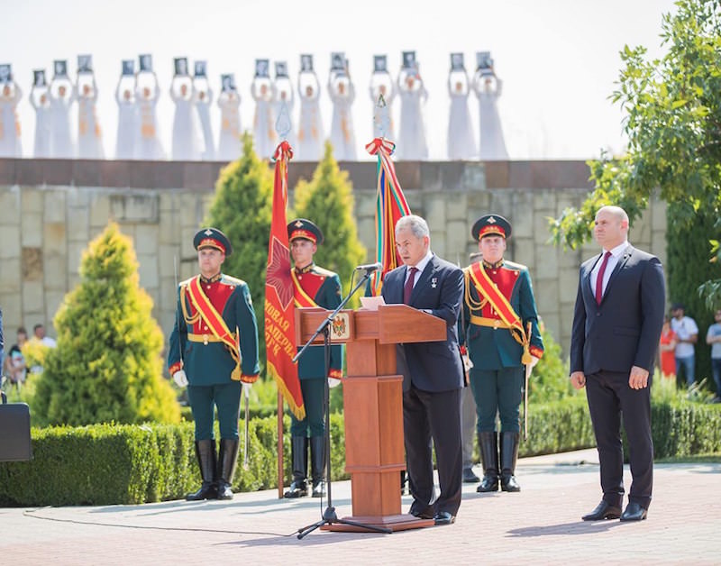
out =
[(138, 160), (164, 160), (165, 151), (160, 142), (156, 112), (160, 97), (158, 76), (152, 70), (150, 55), (141, 55), (140, 61), (141, 68), (135, 76), (135, 99), (138, 107), (135, 158)]

